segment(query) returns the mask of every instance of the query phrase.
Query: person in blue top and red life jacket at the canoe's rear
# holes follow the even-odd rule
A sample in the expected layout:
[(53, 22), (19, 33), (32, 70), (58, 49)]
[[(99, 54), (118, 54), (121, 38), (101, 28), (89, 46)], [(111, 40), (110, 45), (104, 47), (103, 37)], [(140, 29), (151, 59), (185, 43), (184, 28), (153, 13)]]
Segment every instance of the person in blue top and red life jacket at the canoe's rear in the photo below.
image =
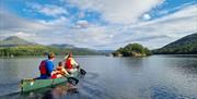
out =
[(55, 54), (49, 53), (48, 59), (40, 62), (39, 64), (40, 76), (38, 77), (39, 79), (46, 79), (51, 77), (54, 71), (54, 63), (53, 63), (54, 60), (55, 60)]

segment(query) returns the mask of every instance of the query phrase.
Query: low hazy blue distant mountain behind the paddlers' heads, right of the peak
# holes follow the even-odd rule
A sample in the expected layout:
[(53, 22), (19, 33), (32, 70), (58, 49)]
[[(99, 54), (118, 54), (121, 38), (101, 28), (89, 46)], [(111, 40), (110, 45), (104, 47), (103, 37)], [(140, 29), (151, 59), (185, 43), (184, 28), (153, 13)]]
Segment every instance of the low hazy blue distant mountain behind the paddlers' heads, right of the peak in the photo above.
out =
[(59, 44), (53, 44), (53, 45), (49, 45), (49, 47), (59, 48), (59, 49), (77, 48), (73, 45), (68, 45), (68, 44), (60, 44), (60, 45)]

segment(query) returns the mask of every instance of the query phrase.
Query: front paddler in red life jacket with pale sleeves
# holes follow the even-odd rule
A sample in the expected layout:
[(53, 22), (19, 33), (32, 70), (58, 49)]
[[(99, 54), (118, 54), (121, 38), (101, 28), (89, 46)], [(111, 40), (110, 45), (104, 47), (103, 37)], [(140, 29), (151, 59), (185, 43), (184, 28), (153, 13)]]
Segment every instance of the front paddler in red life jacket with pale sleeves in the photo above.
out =
[(72, 58), (72, 53), (69, 53), (68, 57), (65, 58), (65, 67), (70, 73), (78, 71), (79, 64)]

